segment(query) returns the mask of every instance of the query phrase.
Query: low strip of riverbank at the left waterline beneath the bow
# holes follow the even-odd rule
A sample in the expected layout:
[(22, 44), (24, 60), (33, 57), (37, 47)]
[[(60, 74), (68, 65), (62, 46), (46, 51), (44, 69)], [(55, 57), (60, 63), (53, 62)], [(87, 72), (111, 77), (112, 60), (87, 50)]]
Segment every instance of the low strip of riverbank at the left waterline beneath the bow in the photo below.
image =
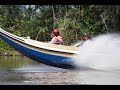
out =
[(22, 54), (17, 51), (0, 51), (0, 56), (22, 56)]

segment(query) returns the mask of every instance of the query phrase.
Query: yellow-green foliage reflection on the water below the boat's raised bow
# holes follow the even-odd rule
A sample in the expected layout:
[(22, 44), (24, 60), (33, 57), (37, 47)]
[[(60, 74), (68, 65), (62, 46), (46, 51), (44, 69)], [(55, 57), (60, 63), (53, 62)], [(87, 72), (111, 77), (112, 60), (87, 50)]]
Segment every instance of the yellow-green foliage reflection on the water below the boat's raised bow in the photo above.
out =
[(4, 70), (12, 70), (29, 64), (36, 64), (24, 56), (0, 56), (0, 68)]

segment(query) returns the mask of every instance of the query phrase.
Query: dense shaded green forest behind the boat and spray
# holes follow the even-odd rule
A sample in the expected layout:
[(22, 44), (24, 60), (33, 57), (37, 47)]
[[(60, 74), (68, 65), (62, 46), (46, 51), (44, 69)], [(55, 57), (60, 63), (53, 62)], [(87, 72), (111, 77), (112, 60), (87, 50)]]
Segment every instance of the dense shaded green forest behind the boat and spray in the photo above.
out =
[[(64, 45), (120, 31), (120, 5), (0, 5), (0, 28), (21, 37), (50, 41), (58, 27)], [(13, 50), (0, 39), (0, 51)]]

